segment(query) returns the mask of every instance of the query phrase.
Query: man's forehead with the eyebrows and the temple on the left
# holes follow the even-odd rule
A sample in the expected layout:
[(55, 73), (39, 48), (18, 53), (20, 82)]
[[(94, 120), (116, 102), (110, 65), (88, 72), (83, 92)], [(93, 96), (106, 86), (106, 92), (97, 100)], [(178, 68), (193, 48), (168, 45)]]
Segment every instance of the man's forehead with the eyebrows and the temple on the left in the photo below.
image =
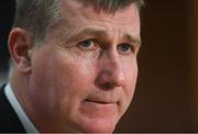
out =
[(92, 9), (94, 7), (86, 7), (78, 1), (61, 0), (62, 21), (47, 32), (51, 40), (68, 42), (72, 36), (79, 36), (79, 34), (82, 36), (87, 34), (85, 31), (89, 31), (88, 35), (95, 33), (95, 36), (102, 35), (103, 40), (116, 36), (123, 38), (130, 35), (140, 41), (140, 16), (136, 4), (132, 3), (113, 14), (105, 11), (98, 13)]

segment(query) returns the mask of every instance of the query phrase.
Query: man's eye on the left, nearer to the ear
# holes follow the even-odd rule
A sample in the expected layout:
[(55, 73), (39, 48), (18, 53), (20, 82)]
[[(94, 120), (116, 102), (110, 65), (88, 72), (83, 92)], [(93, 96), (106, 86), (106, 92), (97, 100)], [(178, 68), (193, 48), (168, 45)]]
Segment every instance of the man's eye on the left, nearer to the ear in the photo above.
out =
[(96, 41), (94, 40), (86, 40), (86, 41), (79, 42), (77, 45), (79, 48), (85, 49), (85, 51), (92, 51), (92, 49), (98, 48), (98, 45)]

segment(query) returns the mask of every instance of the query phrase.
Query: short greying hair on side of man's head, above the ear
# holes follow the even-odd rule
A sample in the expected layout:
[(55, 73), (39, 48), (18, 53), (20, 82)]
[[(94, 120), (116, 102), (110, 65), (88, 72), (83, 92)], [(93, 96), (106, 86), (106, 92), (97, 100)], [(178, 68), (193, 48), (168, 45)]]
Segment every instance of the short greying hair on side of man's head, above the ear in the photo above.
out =
[(47, 29), (59, 18), (59, 0), (16, 0), (14, 27), (31, 32), (42, 41)]

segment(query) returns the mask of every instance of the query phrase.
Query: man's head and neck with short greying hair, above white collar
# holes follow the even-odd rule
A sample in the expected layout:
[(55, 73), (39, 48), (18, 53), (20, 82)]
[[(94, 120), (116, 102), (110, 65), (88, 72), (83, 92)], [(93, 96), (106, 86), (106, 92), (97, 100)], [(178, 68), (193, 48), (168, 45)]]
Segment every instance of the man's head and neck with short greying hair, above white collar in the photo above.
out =
[(138, 76), (141, 0), (18, 0), (12, 88), (41, 132), (112, 132)]

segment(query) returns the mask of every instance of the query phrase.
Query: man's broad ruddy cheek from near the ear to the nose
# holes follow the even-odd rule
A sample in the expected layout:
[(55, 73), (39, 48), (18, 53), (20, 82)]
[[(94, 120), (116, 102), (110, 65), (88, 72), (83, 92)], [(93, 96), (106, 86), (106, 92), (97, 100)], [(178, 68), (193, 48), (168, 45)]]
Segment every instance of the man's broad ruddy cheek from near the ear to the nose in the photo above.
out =
[(75, 111), (80, 101), (94, 87), (94, 66), (90, 66), (90, 62), (57, 53), (44, 60), (40, 59), (33, 66), (31, 96), (36, 98), (34, 103), (41, 105), (40, 110), (48, 110), (52, 112), (51, 118), (66, 121), (67, 115), (77, 114)]

